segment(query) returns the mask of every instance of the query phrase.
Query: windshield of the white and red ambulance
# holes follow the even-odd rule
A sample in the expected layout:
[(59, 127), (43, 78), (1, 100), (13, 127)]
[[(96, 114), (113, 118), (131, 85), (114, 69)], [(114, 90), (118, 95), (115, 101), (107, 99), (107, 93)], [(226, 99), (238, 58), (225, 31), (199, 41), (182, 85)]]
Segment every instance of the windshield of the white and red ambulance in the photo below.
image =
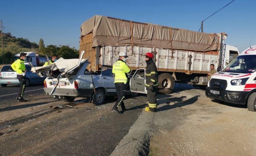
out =
[(256, 71), (256, 55), (240, 55), (228, 64), (223, 72), (253, 73)]

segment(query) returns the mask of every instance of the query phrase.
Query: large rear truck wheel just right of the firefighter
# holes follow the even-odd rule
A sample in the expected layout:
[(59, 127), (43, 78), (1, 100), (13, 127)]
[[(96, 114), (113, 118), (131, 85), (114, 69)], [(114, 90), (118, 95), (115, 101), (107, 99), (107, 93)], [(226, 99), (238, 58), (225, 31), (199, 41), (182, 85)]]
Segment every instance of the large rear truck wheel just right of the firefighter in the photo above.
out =
[(163, 94), (171, 93), (174, 88), (174, 79), (168, 73), (162, 73), (158, 76), (159, 92)]

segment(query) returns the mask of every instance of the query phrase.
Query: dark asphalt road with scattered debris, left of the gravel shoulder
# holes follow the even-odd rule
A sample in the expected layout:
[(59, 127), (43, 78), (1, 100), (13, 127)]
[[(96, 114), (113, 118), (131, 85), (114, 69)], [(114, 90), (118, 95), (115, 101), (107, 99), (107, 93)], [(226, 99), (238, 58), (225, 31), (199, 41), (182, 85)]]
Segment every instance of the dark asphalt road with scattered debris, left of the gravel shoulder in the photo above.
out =
[[(127, 97), (127, 111), (111, 112), (114, 97), (96, 106), (88, 99), (66, 103), (44, 93), (42, 85), (26, 88), (19, 103), (19, 86), (1, 87), (0, 155), (101, 155), (108, 156), (129, 132), (145, 107), (145, 96)], [(39, 90), (38, 90), (39, 89)], [(3, 90), (3, 91), (2, 91)], [(11, 95), (8, 95), (11, 94)], [(77, 109), (60, 109), (58, 105)]]

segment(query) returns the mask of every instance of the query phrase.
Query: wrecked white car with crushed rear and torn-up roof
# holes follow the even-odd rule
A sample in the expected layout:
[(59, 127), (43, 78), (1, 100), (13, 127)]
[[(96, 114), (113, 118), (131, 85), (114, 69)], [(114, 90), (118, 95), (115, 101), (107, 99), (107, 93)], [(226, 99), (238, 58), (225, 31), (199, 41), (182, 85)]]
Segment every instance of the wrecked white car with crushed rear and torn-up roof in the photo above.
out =
[[(90, 98), (94, 104), (101, 105), (105, 96), (117, 95), (112, 67), (102, 66), (100, 73), (90, 72), (88, 59), (60, 58), (46, 67), (35, 67), (34, 71), (41, 76), (47, 75), (44, 81), (47, 95), (60, 96), (65, 102), (85, 97)], [(127, 89), (130, 90), (130, 87)]]

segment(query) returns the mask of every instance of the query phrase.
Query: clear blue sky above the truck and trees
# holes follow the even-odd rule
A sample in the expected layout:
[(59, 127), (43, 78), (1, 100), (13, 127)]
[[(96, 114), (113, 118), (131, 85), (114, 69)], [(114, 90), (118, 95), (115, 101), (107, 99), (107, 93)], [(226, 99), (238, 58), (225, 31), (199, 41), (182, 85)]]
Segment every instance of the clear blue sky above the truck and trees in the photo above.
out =
[[(0, 20), (15, 37), (79, 49), (80, 26), (94, 15), (198, 31), (232, 0), (1, 0)], [(256, 45), (256, 1), (235, 0), (204, 21), (205, 33), (227, 33), (240, 52)]]

